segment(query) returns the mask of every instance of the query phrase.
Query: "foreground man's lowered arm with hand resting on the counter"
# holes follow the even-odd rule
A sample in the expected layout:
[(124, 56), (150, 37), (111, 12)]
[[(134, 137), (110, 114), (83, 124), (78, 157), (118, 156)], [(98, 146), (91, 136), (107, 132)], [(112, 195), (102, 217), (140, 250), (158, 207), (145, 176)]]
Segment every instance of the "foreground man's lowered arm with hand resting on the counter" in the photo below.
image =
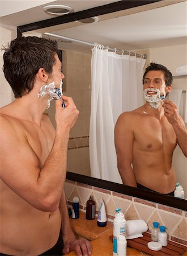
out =
[(62, 220), (63, 254), (70, 253), (70, 251), (76, 251), (77, 255), (91, 255), (91, 242), (84, 238), (76, 239), (73, 230), (71, 229), (64, 191), (62, 191), (59, 211), (61, 213)]

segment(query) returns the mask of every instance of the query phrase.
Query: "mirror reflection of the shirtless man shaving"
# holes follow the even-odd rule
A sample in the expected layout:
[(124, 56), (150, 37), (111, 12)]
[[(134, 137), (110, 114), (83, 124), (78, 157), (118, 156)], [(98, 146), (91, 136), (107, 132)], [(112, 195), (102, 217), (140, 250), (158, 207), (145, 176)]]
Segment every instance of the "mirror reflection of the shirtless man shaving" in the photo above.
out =
[(143, 75), (145, 105), (122, 113), (117, 120), (118, 171), (125, 185), (173, 195), (176, 174), (172, 155), (178, 143), (187, 156), (187, 130), (177, 106), (160, 98), (171, 89), (171, 72), (151, 63)]

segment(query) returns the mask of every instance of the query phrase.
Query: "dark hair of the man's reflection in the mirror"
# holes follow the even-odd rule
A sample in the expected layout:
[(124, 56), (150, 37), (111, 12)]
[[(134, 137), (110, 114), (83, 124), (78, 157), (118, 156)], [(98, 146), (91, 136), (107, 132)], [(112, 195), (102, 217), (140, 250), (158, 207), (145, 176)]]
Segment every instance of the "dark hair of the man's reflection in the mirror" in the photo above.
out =
[(143, 75), (143, 84), (145, 80), (145, 76), (149, 71), (162, 71), (164, 73), (165, 85), (171, 85), (173, 81), (172, 73), (163, 65), (151, 62), (150, 65), (146, 68), (146, 71)]

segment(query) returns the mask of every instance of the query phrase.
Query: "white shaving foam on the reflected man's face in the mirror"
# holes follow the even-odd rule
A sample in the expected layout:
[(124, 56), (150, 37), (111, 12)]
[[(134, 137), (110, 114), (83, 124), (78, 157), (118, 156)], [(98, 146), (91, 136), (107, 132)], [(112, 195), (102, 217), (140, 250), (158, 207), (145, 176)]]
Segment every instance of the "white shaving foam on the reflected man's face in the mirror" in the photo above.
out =
[[(147, 94), (147, 92), (153, 92), (156, 94)], [(160, 90), (155, 88), (147, 88), (144, 90), (144, 98), (152, 108), (158, 109), (159, 101), (162, 100), (162, 96), (160, 97)], [(164, 97), (165, 98), (165, 97)]]

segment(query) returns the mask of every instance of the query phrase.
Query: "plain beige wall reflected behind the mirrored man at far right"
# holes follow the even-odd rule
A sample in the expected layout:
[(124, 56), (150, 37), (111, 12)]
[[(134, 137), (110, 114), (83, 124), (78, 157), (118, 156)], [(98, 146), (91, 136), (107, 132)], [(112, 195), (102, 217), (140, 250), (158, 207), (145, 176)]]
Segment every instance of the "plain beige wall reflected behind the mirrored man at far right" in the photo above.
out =
[[(150, 61), (164, 65), (172, 72), (173, 76), (176, 75), (177, 67), (187, 65), (186, 56), (187, 44), (150, 49)], [(173, 89), (187, 90), (187, 79), (173, 79)], [(176, 170), (177, 181), (184, 188), (185, 197), (187, 197), (187, 158), (182, 154), (179, 146), (176, 147), (173, 154), (173, 167)]]

